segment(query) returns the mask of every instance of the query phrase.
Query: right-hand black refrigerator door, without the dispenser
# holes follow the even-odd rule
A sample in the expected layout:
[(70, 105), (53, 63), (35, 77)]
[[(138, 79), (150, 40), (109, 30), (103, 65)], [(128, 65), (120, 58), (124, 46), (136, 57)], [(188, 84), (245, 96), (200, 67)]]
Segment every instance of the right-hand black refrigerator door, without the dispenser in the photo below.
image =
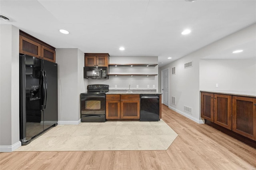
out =
[(44, 60), (43, 71), (47, 82), (44, 93), (44, 130), (58, 123), (58, 71), (57, 64)]

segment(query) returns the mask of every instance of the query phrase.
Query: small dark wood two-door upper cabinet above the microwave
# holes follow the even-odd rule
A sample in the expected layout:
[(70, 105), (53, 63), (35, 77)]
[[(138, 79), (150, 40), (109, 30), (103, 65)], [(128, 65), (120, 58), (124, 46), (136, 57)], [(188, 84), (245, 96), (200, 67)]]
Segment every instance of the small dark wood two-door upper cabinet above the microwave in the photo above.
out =
[(108, 53), (84, 53), (85, 67), (108, 67)]

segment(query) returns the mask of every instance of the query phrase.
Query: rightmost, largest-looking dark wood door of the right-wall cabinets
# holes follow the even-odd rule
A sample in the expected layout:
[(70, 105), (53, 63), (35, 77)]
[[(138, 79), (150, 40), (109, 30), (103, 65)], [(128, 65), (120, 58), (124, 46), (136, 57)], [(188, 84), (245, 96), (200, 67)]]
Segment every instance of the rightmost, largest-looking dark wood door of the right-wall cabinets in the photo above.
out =
[(256, 140), (256, 98), (233, 96), (232, 130)]

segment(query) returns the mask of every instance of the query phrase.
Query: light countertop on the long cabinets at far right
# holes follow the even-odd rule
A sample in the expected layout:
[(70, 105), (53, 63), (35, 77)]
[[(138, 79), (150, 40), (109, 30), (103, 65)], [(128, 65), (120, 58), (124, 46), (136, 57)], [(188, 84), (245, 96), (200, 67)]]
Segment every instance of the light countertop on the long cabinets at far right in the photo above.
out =
[(244, 97), (256, 97), (256, 91), (201, 90), (200, 92), (218, 93), (218, 94), (224, 94), (224, 95), (236, 95), (236, 96), (244, 96)]

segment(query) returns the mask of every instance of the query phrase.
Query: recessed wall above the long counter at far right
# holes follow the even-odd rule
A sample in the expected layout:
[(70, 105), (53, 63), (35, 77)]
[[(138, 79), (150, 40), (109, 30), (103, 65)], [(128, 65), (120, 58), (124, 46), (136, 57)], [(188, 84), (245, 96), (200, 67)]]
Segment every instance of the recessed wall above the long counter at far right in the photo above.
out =
[(256, 91), (256, 56), (255, 59), (201, 59), (200, 90)]

